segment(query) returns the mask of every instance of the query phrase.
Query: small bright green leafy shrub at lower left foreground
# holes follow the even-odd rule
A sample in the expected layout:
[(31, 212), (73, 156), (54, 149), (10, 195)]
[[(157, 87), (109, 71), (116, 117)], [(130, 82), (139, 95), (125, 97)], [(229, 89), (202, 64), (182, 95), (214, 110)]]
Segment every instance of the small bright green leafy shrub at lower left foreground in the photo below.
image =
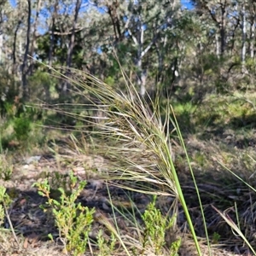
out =
[[(90, 227), (93, 222), (94, 209), (83, 207), (76, 200), (84, 189), (86, 182), (78, 182), (77, 177), (70, 174), (71, 192), (65, 192), (59, 188), (60, 201), (51, 198), (50, 186), (47, 180), (43, 183), (35, 183), (38, 194), (48, 199), (47, 204), (52, 209), (55, 224), (59, 230), (59, 239), (62, 241), (66, 253), (82, 255), (88, 242)], [(52, 238), (52, 236), (49, 236)]]

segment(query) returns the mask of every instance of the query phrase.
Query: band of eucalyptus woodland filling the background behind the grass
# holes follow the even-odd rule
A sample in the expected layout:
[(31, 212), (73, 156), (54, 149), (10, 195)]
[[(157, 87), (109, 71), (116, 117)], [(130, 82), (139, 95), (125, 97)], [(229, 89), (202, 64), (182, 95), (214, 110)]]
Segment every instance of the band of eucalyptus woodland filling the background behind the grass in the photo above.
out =
[[(1, 63), (18, 84), (28, 76), (28, 92), (40, 94), (52, 85), (43, 79), (44, 89), (39, 88), (41, 79), (34, 78), (41, 67), (24, 53), (49, 65), (88, 71), (120, 88), (121, 65), (142, 95), (162, 88), (169, 96), (194, 91), (198, 97), (201, 91), (232, 90), (230, 81), (254, 83), (253, 76), (234, 79), (237, 72), (255, 73), (251, 1), (193, 0), (190, 9), (177, 0), (31, 1), (31, 13), (28, 3), (2, 1), (0, 15)], [(61, 81), (55, 85), (61, 93)], [(44, 100), (50, 97), (48, 92)]]

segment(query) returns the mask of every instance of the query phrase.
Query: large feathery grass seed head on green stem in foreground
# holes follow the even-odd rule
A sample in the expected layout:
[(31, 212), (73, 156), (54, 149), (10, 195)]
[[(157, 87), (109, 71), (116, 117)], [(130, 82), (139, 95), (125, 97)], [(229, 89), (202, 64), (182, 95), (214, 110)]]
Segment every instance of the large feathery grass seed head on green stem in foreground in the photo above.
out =
[[(169, 102), (163, 108), (157, 100), (153, 102), (149, 97), (143, 99), (134, 84), (125, 78), (125, 74), (125, 90), (119, 90), (77, 70), (70, 70), (68, 77), (62, 75), (63, 70), (55, 70), (55, 73), (72, 85), (73, 92), (86, 97), (90, 103), (84, 104), (84, 108), (90, 107), (90, 111), (96, 113), (87, 115), (62, 112), (84, 123), (81, 131), (90, 126), (90, 152), (106, 159), (105, 169), (108, 172), (105, 178), (123, 189), (147, 195), (172, 196), (170, 212), (177, 216), (178, 205), (183, 207), (197, 253), (201, 255), (174, 166), (173, 134), (176, 134), (186, 151)], [(159, 100), (159, 97), (156, 99)], [(188, 155), (187, 160), (189, 164)], [(193, 177), (191, 166), (189, 169)]]

